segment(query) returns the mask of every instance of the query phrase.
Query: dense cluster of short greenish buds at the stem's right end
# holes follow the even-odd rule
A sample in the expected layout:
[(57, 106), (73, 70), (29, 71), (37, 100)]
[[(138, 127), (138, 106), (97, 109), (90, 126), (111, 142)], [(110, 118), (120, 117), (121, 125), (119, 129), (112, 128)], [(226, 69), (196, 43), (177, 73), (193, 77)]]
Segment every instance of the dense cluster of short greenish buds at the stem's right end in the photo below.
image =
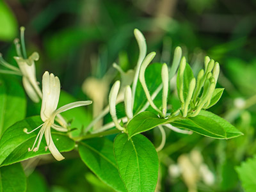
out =
[(200, 70), (195, 79), (191, 68), (186, 63), (186, 58), (182, 58), (177, 76), (177, 90), (182, 116), (196, 116), (201, 109), (212, 106), (211, 99), (214, 91), (217, 91), (215, 87), (219, 74), (219, 63), (206, 56), (205, 69)]

